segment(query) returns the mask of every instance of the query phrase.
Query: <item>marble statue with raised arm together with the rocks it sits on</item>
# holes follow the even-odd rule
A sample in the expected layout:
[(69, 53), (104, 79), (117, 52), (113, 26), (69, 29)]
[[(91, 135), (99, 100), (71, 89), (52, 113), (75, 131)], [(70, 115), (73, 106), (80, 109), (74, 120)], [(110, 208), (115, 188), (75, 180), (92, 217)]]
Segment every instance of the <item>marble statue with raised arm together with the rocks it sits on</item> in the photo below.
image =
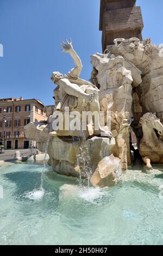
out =
[(122, 180), (122, 169), (120, 159), (112, 154), (116, 142), (105, 124), (108, 112), (101, 112), (99, 89), (79, 78), (82, 62), (72, 41), (62, 42), (62, 47), (76, 67), (65, 78), (53, 72), (51, 79), (58, 85), (54, 90), (56, 106), (51, 112), (48, 109), (47, 123), (25, 127), (26, 137), (36, 141), (41, 152), (48, 153), (48, 164), (55, 172), (87, 179), (88, 186), (90, 182), (94, 186), (113, 186)]

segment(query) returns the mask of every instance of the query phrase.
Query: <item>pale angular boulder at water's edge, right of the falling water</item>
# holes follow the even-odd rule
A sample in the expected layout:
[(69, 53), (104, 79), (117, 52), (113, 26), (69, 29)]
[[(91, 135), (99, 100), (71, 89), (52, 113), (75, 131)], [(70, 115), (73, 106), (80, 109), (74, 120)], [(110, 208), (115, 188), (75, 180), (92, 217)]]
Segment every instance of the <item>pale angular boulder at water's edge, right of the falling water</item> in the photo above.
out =
[(114, 155), (102, 159), (92, 175), (91, 184), (98, 187), (110, 187), (122, 181), (120, 159)]

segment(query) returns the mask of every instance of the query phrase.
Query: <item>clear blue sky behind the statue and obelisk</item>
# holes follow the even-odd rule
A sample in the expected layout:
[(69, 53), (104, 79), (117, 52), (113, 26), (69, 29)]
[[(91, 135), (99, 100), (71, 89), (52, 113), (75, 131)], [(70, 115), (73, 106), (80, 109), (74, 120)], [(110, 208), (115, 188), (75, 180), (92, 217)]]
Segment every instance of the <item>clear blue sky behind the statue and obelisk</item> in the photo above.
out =
[[(83, 62), (81, 77), (89, 80), (90, 55), (102, 52), (100, 0), (0, 0), (0, 98), (40, 99), (53, 104), (52, 71), (64, 74), (73, 67), (60, 44), (72, 38)], [(163, 1), (137, 0), (145, 28), (143, 38), (163, 43)]]

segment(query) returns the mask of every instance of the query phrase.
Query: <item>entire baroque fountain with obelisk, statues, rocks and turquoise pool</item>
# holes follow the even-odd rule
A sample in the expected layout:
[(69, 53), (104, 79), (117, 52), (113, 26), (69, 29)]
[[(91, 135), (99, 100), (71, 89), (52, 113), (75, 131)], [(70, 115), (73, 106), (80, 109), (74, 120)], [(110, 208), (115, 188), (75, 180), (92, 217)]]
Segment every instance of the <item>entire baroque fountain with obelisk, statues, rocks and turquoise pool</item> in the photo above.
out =
[(53, 72), (55, 106), (25, 127), (48, 166), (0, 166), (0, 244), (162, 245), (163, 51), (142, 40), (135, 2), (101, 0), (90, 81), (62, 42), (75, 67)]

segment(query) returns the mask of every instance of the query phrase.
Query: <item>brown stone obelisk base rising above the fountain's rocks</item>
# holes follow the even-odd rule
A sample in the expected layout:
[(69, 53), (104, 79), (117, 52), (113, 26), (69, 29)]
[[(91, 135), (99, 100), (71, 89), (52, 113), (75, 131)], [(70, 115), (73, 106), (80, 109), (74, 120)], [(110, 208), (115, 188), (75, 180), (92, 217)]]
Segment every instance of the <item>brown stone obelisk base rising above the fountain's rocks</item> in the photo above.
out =
[(99, 30), (102, 31), (103, 51), (114, 44), (115, 38), (142, 40), (143, 20), (136, 0), (101, 0)]

